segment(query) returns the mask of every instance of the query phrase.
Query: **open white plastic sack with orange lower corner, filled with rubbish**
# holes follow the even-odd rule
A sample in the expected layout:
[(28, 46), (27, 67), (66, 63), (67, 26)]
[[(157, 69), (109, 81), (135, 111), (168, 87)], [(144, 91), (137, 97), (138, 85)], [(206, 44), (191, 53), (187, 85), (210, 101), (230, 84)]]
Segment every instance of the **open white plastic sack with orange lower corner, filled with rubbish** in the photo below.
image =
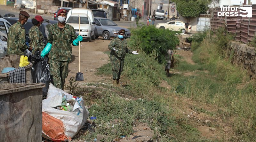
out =
[[(60, 128), (60, 129), (64, 131), (65, 139), (67, 137), (70, 140), (84, 126), (86, 120), (88, 119), (89, 111), (84, 107), (84, 100), (82, 97), (76, 100), (76, 103), (73, 108), (73, 112), (58, 110), (53, 108), (56, 106), (60, 106), (61, 99), (64, 96), (67, 98), (67, 100), (73, 97), (72, 95), (66, 93), (65, 91), (62, 91), (61, 89), (54, 87), (50, 83), (47, 97), (46, 99), (43, 100), (42, 111), (58, 119), (57, 120), (53, 118), (54, 121), (60, 120), (61, 122), (63, 122), (64, 129), (63, 128), (62, 129)], [(52, 141), (62, 141), (63, 139), (60, 139), (60, 137), (58, 136), (55, 137), (55, 135), (52, 135), (52, 133), (59, 134), (61, 132), (56, 131), (56, 128), (54, 128), (56, 126), (52, 126), (53, 124), (52, 125), (50, 124), (50, 123), (53, 123), (51, 122), (52, 121), (51, 119), (45, 119), (44, 117), (45, 113), (43, 113), (43, 137), (50, 139)], [(51, 117), (51, 116), (48, 116), (48, 117)], [(44, 127), (47, 127), (46, 128), (47, 131), (46, 129), (44, 129)], [(52, 128), (49, 128), (49, 127), (52, 127)]]

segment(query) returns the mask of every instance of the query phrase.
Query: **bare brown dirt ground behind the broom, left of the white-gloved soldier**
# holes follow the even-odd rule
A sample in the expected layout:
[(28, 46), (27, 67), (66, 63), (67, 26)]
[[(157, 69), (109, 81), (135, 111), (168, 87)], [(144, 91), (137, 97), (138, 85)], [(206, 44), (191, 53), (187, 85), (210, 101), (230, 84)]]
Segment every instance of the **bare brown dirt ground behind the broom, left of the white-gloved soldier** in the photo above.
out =
[[(93, 42), (83, 41), (81, 44), (81, 72), (84, 73), (84, 83), (108, 82), (108, 77), (95, 75), (97, 68), (108, 63), (108, 44), (110, 40), (96, 39)], [(72, 61), (69, 62), (69, 73), (66, 79), (76, 76), (79, 67), (79, 46), (72, 47)]]

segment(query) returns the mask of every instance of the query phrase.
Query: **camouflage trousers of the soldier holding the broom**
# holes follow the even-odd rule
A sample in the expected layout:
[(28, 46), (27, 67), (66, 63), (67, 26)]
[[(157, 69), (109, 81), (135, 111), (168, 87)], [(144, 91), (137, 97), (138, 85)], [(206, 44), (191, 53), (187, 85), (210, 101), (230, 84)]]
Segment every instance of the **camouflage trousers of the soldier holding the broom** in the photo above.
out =
[(54, 86), (64, 90), (65, 79), (68, 77), (68, 62), (49, 59), (49, 65)]

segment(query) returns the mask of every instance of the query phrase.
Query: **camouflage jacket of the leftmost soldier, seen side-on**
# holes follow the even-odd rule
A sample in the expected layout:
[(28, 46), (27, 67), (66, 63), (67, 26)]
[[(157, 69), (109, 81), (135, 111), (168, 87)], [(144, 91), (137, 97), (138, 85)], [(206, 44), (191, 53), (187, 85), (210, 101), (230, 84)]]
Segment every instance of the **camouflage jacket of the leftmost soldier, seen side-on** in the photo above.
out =
[(24, 55), (24, 51), (28, 49), (26, 45), (26, 33), (25, 28), (22, 27), (21, 23), (13, 24), (9, 28), (7, 37), (7, 54)]

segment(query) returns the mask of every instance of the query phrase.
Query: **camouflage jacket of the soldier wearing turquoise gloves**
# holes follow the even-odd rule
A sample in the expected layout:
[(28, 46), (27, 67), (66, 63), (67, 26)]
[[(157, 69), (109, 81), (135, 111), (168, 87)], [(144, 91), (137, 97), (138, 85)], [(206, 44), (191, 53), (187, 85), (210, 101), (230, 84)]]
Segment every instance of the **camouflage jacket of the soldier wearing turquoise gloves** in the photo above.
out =
[(58, 61), (71, 61), (72, 42), (76, 39), (75, 29), (65, 24), (62, 31), (58, 27), (58, 23), (49, 28), (48, 43), (52, 44), (49, 58)]

